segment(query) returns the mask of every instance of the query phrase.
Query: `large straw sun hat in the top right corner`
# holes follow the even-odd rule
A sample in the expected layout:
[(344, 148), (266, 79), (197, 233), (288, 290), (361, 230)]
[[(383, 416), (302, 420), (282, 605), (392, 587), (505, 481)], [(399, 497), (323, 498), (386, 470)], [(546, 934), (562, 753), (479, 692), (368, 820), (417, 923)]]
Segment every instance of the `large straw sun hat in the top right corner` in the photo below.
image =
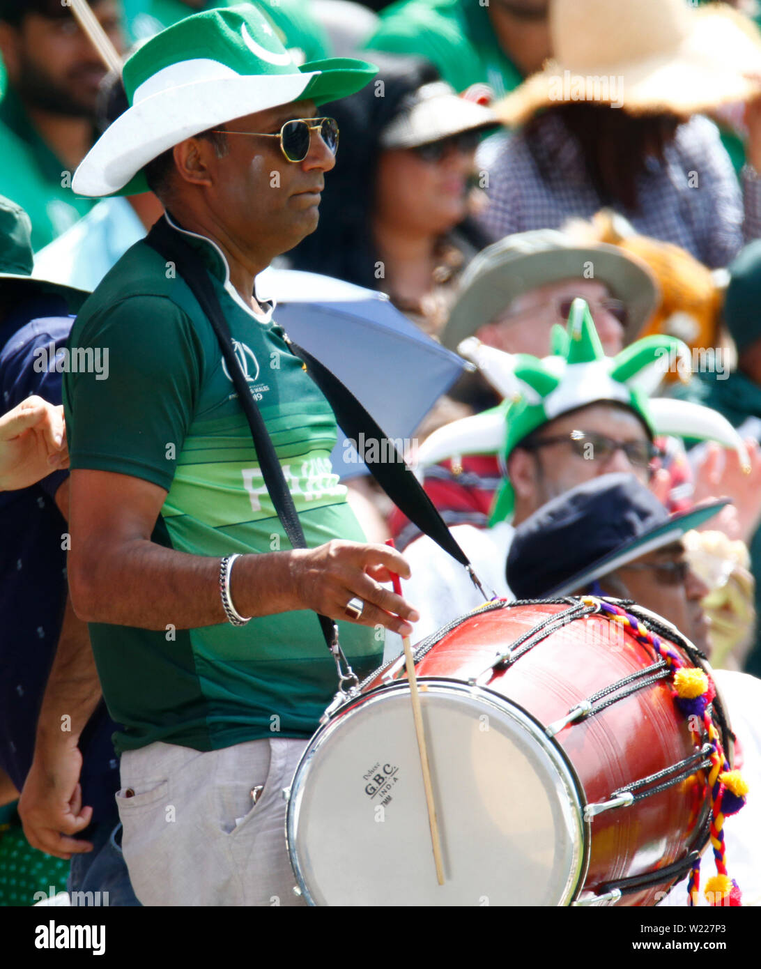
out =
[(761, 34), (726, 4), (554, 0), (553, 57), (495, 106), (504, 124), (574, 101), (688, 117), (744, 102), (761, 83)]

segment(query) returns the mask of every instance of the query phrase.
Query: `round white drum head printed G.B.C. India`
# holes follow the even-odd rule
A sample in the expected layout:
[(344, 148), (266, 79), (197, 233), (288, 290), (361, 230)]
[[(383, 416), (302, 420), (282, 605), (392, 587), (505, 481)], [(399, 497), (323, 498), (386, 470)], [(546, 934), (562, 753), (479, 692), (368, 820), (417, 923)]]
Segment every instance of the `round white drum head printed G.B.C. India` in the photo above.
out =
[(436, 878), (410, 690), (315, 735), (290, 791), (289, 851), (316, 905), (565, 905), (586, 865), (578, 783), (517, 705), (421, 680), (445, 884)]

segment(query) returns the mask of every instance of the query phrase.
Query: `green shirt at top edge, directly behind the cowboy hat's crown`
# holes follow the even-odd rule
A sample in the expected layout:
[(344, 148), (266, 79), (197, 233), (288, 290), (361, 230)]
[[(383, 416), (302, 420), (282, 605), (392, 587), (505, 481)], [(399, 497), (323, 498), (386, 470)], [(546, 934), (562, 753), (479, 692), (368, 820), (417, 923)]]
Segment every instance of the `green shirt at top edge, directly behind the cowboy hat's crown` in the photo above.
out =
[[(254, 0), (251, 0), (254, 2)], [(145, 40), (185, 16), (217, 7), (234, 7), (240, 0), (211, 0), (192, 7), (182, 0), (123, 0), (127, 31), (133, 40)], [(280, 40), (297, 64), (331, 55), (330, 42), (307, 0), (256, 0), (269, 17)]]

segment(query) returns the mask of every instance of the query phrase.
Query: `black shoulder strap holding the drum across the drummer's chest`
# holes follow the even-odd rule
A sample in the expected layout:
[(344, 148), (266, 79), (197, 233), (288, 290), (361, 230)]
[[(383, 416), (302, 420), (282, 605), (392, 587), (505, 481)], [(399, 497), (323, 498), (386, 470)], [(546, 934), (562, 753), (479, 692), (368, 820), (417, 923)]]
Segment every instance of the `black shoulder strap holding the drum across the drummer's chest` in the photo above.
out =
[[(240, 405), (251, 427), (264, 484), (272, 498), (275, 511), (283, 524), (291, 546), (305, 548), (304, 532), (293, 505), (289, 486), (286, 483), (283, 469), (259, 412), (257, 402), (249, 391), (245, 375), (235, 356), (228, 323), (214, 292), (214, 287), (211, 285), (206, 266), (204, 266), (193, 246), (189, 245), (181, 234), (169, 228), (166, 218), (162, 218), (156, 223), (146, 236), (145, 241), (168, 262), (174, 264), (175, 270), (179, 272), (193, 295), (198, 299), (198, 305), (214, 329), (222, 349), (223, 358), (228, 366), (228, 373), (238, 393)], [(397, 452), (393, 441), (386, 437), (381, 427), (362, 404), (327, 367), (303, 348), (290, 343), (290, 341), (289, 344), (293, 353), (306, 363), (313, 379), (320, 387), (320, 391), (333, 408), (336, 421), (344, 432), (353, 435), (355, 440), (359, 438), (360, 433), (364, 433), (366, 439), (372, 438), (377, 440), (379, 444), (383, 443), (379, 449), (381, 453), (396, 455), (397, 459), (394, 461), (366, 462), (376, 481), (389, 498), (422, 532), (429, 535), (444, 551), (447, 551), (460, 562), (469, 571), (476, 586), (483, 592), (481, 583), (472, 571), (468, 557), (454, 540), (441, 515), (411, 473), (402, 455)], [(488, 598), (485, 593), (484, 598)], [(326, 616), (320, 615), (319, 618), (325, 640), (330, 645), (331, 641), (335, 641), (335, 624)]]

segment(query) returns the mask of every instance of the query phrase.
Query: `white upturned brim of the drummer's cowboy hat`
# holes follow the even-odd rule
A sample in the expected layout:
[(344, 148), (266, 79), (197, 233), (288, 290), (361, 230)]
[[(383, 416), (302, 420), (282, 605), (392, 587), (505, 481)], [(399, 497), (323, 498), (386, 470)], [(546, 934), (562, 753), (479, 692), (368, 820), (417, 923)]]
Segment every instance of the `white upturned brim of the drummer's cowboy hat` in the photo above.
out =
[(159, 91), (107, 128), (76, 169), (72, 189), (87, 198), (113, 195), (180, 141), (233, 118), (287, 105), (318, 74), (205, 78)]

